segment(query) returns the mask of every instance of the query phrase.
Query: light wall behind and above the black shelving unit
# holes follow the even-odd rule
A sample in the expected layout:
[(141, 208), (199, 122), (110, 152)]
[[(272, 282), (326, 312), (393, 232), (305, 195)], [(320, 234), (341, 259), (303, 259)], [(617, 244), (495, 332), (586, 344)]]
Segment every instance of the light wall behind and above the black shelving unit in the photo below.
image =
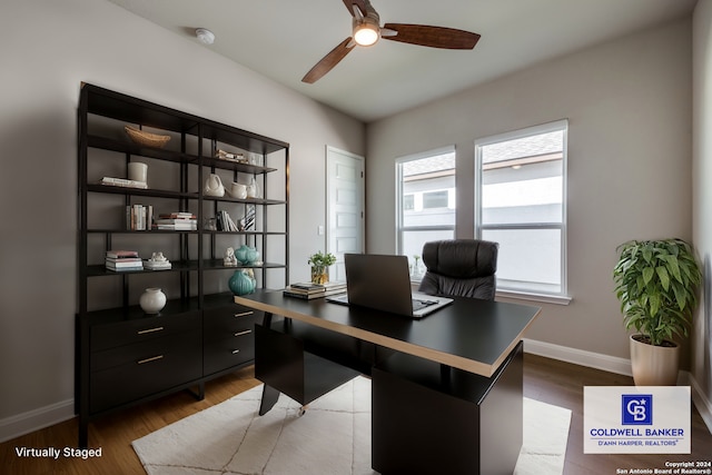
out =
[(3, 0), (0, 43), (2, 441), (73, 409), (81, 81), (290, 142), (294, 279), (325, 248), (325, 145), (364, 155), (365, 127), (103, 0)]

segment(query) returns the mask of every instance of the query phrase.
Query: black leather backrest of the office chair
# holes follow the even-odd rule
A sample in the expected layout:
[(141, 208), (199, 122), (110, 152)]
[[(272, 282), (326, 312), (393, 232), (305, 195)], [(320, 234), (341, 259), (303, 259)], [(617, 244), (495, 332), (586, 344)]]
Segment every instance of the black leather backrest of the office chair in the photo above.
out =
[(447, 239), (425, 243), (427, 268), (418, 288), (426, 294), (494, 300), (497, 243), (478, 239)]

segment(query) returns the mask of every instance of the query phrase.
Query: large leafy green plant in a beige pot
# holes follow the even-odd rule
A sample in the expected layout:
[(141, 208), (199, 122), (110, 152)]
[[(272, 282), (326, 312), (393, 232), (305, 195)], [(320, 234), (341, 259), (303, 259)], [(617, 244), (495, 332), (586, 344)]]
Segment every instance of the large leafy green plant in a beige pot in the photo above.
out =
[(680, 347), (686, 337), (702, 279), (692, 247), (682, 239), (630, 240), (617, 248), (615, 295), (631, 335), (631, 364), (637, 386), (678, 382)]

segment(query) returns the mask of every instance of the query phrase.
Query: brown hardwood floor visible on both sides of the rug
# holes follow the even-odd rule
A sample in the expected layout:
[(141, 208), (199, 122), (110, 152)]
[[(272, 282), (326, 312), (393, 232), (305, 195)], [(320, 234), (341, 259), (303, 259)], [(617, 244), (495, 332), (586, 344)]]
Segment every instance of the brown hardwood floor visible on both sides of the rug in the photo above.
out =
[[(197, 402), (187, 392), (122, 410), (90, 424), (89, 445), (101, 447), (101, 457), (58, 461), (19, 457), (21, 447), (60, 451), (77, 444), (77, 422), (68, 420), (0, 444), (0, 473), (13, 475), (139, 474), (144, 468), (131, 448), (131, 441), (202, 410), (257, 386), (253, 368), (225, 376), (206, 385), (206, 397)], [(665, 468), (665, 462), (712, 461), (712, 435), (700, 415), (692, 415), (690, 455), (585, 455), (583, 454), (583, 387), (632, 385), (629, 377), (585, 368), (533, 355), (524, 356), (524, 395), (572, 409), (565, 475), (621, 474), (619, 469)], [(631, 472), (629, 472), (631, 473)], [(330, 475), (315, 472), (315, 475)], [(439, 474), (438, 474), (439, 475)], [(546, 475), (546, 474), (542, 474)]]

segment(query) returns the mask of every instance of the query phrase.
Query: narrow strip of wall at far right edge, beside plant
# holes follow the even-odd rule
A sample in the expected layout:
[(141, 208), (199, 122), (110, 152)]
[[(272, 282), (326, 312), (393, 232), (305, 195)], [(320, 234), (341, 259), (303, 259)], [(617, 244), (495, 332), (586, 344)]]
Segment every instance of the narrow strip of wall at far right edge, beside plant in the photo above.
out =
[[(704, 263), (704, 290), (692, 333), (692, 375), (712, 420), (712, 1), (700, 0), (693, 17), (693, 229)], [(702, 405), (698, 404), (701, 408)]]

